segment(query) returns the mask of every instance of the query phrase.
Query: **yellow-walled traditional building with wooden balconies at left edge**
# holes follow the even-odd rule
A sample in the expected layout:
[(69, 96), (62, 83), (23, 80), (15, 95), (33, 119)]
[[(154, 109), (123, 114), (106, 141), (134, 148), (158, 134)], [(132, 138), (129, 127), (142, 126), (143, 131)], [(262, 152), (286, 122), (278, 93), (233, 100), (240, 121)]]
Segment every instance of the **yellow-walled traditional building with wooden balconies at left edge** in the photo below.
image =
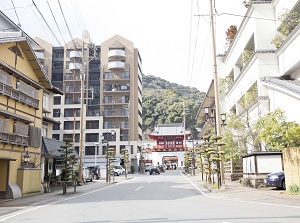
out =
[(0, 38), (0, 197), (41, 191), (42, 130), (47, 130), (51, 85), (23, 32)]

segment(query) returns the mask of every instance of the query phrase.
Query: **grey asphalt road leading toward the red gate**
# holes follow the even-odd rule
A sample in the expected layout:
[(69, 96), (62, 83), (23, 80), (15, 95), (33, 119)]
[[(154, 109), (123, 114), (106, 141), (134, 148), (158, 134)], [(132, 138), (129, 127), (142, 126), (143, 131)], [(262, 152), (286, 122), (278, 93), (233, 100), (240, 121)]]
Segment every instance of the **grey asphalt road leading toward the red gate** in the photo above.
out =
[(214, 198), (179, 171), (39, 197), (0, 203), (0, 222), (300, 222), (299, 207)]

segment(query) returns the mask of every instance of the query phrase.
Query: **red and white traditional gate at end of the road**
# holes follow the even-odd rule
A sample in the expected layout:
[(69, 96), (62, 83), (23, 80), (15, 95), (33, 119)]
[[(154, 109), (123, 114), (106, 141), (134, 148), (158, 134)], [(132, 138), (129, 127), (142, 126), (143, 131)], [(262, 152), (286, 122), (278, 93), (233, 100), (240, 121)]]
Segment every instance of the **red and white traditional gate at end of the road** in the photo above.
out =
[(188, 149), (186, 141), (190, 135), (182, 123), (156, 125), (149, 134), (149, 138), (156, 141), (152, 148), (152, 164), (182, 167), (183, 154)]

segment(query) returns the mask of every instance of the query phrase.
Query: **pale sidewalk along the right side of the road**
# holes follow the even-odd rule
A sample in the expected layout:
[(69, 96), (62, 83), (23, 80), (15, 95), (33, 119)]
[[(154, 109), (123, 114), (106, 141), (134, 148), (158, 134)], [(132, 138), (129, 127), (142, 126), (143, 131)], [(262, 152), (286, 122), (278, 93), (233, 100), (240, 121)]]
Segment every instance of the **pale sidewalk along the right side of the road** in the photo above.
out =
[(240, 184), (239, 181), (226, 181), (220, 189), (208, 189), (201, 176), (186, 177), (208, 196), (237, 201), (253, 201), (300, 207), (300, 195), (290, 195), (285, 190), (273, 187), (253, 188)]

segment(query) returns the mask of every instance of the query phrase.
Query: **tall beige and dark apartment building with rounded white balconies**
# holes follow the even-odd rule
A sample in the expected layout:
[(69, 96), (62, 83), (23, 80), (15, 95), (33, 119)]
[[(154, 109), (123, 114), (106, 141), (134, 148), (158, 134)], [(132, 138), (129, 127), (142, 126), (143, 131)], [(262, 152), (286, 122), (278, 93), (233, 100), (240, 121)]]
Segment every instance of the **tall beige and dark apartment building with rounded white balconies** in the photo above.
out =
[(37, 51), (45, 55), (44, 68), (52, 84), (64, 91), (54, 97), (53, 118), (61, 125), (54, 124), (52, 138), (73, 138), (84, 166), (105, 166), (107, 148), (115, 149), (116, 162), (121, 163), (120, 152), (127, 148), (131, 165), (137, 168), (142, 145), (138, 49), (119, 35), (94, 45), (87, 31), (62, 47), (35, 41), (41, 46)]

